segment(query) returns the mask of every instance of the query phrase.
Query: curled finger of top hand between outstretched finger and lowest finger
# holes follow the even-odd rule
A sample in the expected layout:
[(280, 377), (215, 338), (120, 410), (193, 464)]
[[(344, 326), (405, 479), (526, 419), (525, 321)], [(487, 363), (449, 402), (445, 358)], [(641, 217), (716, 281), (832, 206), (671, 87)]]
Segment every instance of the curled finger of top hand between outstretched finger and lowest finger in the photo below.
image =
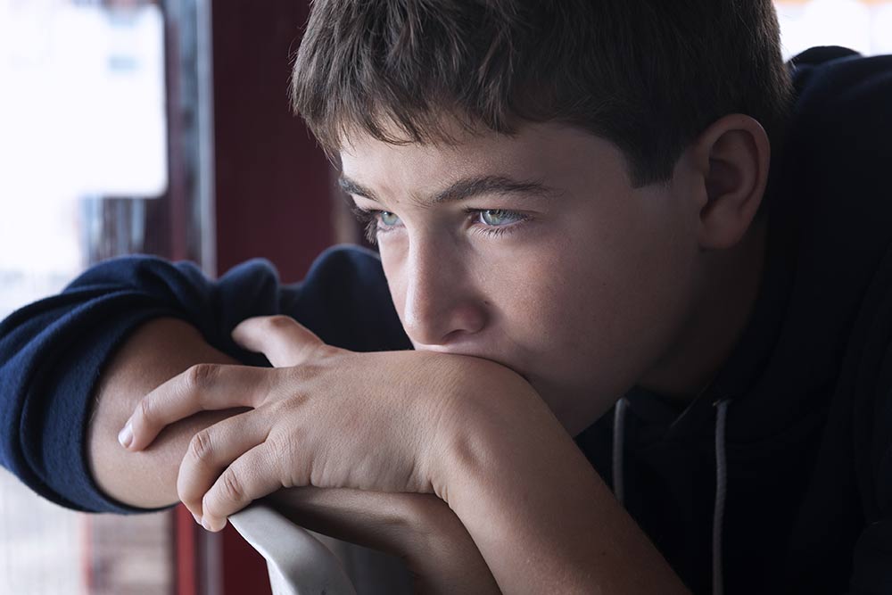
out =
[(268, 425), (254, 411), (229, 417), (192, 437), (179, 465), (177, 493), (186, 508), (202, 516), (202, 499), (223, 470), (267, 439)]

